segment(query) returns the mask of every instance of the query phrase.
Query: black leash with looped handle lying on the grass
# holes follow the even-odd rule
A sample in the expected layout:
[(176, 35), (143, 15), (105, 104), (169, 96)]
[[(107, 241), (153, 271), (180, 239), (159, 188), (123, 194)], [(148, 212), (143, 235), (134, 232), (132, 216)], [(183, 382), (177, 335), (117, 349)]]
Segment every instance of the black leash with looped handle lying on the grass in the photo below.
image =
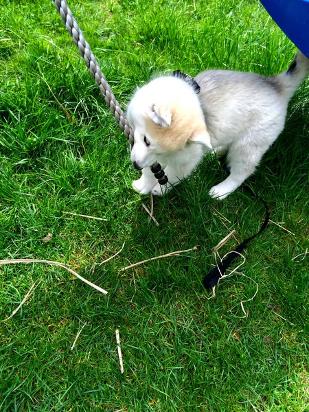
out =
[[(223, 165), (223, 167), (225, 167), (225, 165)], [(246, 185), (246, 189), (249, 190), (249, 192), (253, 194), (253, 196), (256, 196), (249, 186)], [(229, 268), (229, 265), (235, 259), (240, 257), (240, 253), (242, 253), (244, 248), (247, 247), (247, 244), (251, 242), (251, 240), (253, 240), (257, 236), (259, 236), (260, 233), (262, 233), (262, 231), (266, 229), (268, 222), (269, 222), (269, 216), (270, 216), (269, 208), (263, 198), (261, 198), (260, 196), (258, 196), (258, 198), (260, 199), (260, 201), (262, 201), (262, 203), (264, 203), (265, 211), (266, 211), (266, 216), (265, 216), (264, 222), (262, 223), (262, 226), (260, 227), (260, 230), (258, 231), (258, 233), (255, 233), (255, 235), (250, 236), (249, 238), (245, 239), (242, 243), (240, 243), (240, 245), (238, 245), (238, 247), (236, 247), (235, 251), (232, 251), (231, 253), (229, 253), (229, 255), (227, 255), (227, 258), (225, 258), (224, 260), (222, 260), (222, 262), (217, 264), (215, 268), (211, 269), (211, 271), (203, 279), (203, 284), (206, 289), (214, 288), (214, 286), (218, 284), (220, 278), (227, 271), (227, 268)]]

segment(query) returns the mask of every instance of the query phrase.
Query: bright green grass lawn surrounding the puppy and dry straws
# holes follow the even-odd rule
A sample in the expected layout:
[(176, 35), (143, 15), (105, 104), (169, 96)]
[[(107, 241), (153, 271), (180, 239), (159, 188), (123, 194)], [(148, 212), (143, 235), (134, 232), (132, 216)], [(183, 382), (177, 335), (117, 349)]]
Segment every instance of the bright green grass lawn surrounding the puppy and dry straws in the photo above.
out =
[[(80, 60), (52, 1), (3, 0), (0, 14), (0, 258), (69, 264), (104, 296), (44, 264), (0, 267), (0, 410), (309, 411), (308, 87), (249, 185), (271, 223), (216, 297), (201, 279), (258, 230), (262, 204), (241, 188), (209, 198), (225, 172), (211, 157), (165, 198), (159, 227), (130, 187), (124, 136)], [(257, 0), (70, 1), (122, 104), (157, 73), (207, 68), (284, 70), (295, 47)], [(49, 91), (71, 116), (66, 117)], [(106, 218), (90, 220), (71, 211)], [(52, 233), (50, 242), (44, 236)], [(124, 251), (102, 266), (94, 266)], [(133, 262), (198, 245), (171, 257)], [(250, 299), (258, 284), (258, 294)], [(278, 316), (280, 315), (280, 316)], [(286, 320), (284, 320), (284, 319)], [(76, 334), (87, 323), (73, 350)], [(119, 328), (124, 374), (119, 371)], [(253, 406), (258, 409), (254, 409)]]

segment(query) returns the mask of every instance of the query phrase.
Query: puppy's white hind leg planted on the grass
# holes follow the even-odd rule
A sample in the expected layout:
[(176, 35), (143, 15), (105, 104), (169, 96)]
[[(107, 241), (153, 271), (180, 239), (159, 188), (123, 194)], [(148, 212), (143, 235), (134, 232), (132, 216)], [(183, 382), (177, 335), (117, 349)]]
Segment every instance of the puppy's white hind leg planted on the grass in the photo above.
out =
[(229, 148), (227, 163), (230, 174), (216, 186), (211, 187), (209, 195), (212, 198), (224, 199), (234, 192), (240, 185), (255, 171), (258, 163), (262, 159), (267, 146), (256, 146), (254, 144), (233, 144)]

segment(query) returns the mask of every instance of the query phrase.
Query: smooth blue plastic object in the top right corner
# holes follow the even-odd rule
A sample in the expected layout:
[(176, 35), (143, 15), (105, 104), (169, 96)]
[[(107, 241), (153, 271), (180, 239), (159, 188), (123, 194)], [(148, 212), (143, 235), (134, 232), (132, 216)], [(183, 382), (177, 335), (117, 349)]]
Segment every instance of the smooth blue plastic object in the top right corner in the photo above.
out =
[(309, 0), (260, 0), (280, 29), (309, 58)]

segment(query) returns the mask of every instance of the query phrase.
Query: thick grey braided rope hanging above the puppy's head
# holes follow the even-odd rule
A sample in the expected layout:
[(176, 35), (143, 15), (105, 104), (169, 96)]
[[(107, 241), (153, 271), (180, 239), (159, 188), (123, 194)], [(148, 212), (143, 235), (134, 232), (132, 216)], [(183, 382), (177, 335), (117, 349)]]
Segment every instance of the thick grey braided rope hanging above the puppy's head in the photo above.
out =
[(108, 82), (106, 82), (106, 78), (102, 73), (100, 66), (98, 65), (97, 60), (95, 60), (95, 56), (93, 52), (91, 52), (91, 48), (87, 41), (85, 41), (84, 36), (82, 34), (82, 30), (78, 27), (78, 23), (76, 23), (76, 19), (74, 19), (71, 10), (67, 5), (66, 0), (54, 0), (56, 9), (60, 13), (61, 19), (63, 23), (65, 23), (65, 27), (67, 27), (67, 31), (71, 34), (74, 43), (77, 45), (78, 50), (80, 52), (80, 56), (84, 58), (86, 65), (93, 76), (95, 83), (98, 85), (102, 95), (104, 96), (105, 102), (107, 106), (110, 108), (111, 113), (113, 113), (116, 122), (119, 124), (119, 128), (124, 132), (124, 135), (130, 141), (130, 144), (134, 142), (134, 132), (131, 128), (128, 120), (126, 119), (124, 112), (119, 106), (113, 92), (111, 91), (111, 87), (109, 87)]

